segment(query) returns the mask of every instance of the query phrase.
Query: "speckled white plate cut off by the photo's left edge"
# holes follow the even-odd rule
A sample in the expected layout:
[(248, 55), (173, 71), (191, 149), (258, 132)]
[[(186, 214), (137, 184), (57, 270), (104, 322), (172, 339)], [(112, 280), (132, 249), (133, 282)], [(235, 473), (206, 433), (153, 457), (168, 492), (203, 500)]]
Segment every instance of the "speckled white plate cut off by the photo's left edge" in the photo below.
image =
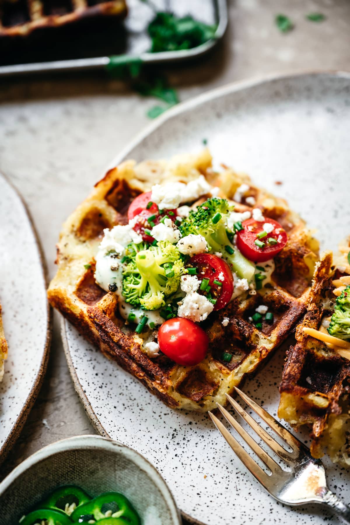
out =
[(39, 391), (50, 343), (43, 258), (22, 198), (0, 173), (0, 301), (8, 359), (0, 383), (0, 463)]

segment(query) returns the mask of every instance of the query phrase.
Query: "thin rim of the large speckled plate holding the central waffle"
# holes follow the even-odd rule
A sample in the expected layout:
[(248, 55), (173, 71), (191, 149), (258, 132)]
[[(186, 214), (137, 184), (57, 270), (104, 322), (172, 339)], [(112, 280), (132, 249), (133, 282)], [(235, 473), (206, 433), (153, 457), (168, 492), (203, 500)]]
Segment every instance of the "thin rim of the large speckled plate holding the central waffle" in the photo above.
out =
[[(222, 96), (228, 95), (229, 93), (234, 93), (237, 91), (245, 90), (252, 87), (257, 87), (260, 85), (264, 85), (269, 82), (278, 81), (278, 80), (292, 80), (296, 78), (302, 78), (306, 76), (324, 76), (324, 77), (338, 77), (338, 78), (344, 78), (350, 80), (350, 71), (345, 70), (300, 70), (297, 72), (291, 72), (288, 74), (271, 74), (271, 75), (265, 75), (263, 77), (257, 77), (249, 80), (239, 80), (235, 82), (230, 82), (224, 86), (220, 86), (215, 89), (211, 89), (208, 91), (205, 91), (204, 93), (201, 93), (200, 95), (197, 95), (196, 97), (190, 98), (184, 102), (181, 102), (174, 106), (173, 108), (167, 110), (164, 112), (160, 117), (156, 118), (154, 122), (151, 122), (149, 125), (147, 125), (143, 130), (141, 130), (139, 133), (136, 134), (136, 137), (130, 141), (126, 146), (120, 151), (118, 155), (116, 155), (111, 162), (107, 164), (105, 167), (105, 170), (103, 171), (103, 174), (101, 175), (101, 178), (104, 176), (105, 172), (107, 172), (112, 167), (120, 164), (122, 161), (124, 161), (127, 157), (130, 151), (132, 151), (140, 142), (142, 142), (150, 133), (155, 131), (157, 128), (160, 128), (161, 125), (166, 122), (167, 120), (185, 113), (187, 110), (193, 109), (196, 106), (200, 105), (201, 103), (208, 102), (210, 100), (218, 99)], [(80, 401), (82, 402), (84, 409), (86, 410), (87, 415), (89, 416), (89, 419), (91, 421), (92, 426), (101, 434), (102, 436), (109, 437), (112, 439), (105, 428), (103, 427), (102, 423), (100, 422), (98, 416), (96, 413), (94, 413), (93, 408), (89, 402), (89, 399), (87, 395), (83, 391), (83, 387), (79, 382), (77, 372), (75, 370), (75, 367), (73, 365), (70, 351), (69, 351), (69, 343), (68, 343), (68, 336), (67, 336), (67, 324), (68, 321), (61, 316), (60, 319), (60, 332), (61, 332), (61, 338), (63, 343), (63, 349), (65, 351), (66, 360), (68, 364), (69, 373), (71, 375), (73, 384), (75, 386), (75, 390), (80, 398)], [(181, 506), (181, 504), (179, 504)], [(189, 516), (186, 512), (180, 509), (180, 512), (182, 514), (182, 517), (185, 518), (188, 522), (193, 523), (194, 525), (207, 525), (203, 521), (198, 521), (195, 518), (192, 518)]]

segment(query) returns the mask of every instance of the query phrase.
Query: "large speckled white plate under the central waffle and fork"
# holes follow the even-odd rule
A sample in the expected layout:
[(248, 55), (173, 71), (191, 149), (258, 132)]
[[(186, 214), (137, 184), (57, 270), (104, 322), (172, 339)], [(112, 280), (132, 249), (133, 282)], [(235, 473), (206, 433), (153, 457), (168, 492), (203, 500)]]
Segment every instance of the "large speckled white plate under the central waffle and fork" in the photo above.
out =
[[(215, 164), (246, 171), (257, 185), (287, 198), (318, 229), (322, 246), (336, 248), (350, 230), (349, 133), (349, 74), (275, 78), (230, 85), (176, 107), (111, 165), (195, 151), (206, 139)], [(206, 415), (167, 408), (68, 323), (66, 328), (70, 371), (92, 422), (160, 470), (186, 517), (208, 525), (332, 522), (320, 508), (291, 509), (275, 502)], [(244, 385), (273, 415), (285, 349)], [(330, 488), (349, 501), (349, 474), (327, 459), (325, 464)]]

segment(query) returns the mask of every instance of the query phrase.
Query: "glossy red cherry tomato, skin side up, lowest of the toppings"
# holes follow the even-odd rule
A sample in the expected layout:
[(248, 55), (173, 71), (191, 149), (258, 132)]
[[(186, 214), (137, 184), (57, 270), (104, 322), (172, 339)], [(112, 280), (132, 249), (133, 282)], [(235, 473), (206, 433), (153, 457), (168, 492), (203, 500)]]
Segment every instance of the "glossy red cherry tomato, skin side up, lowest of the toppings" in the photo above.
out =
[(198, 324), (175, 317), (165, 321), (158, 330), (158, 344), (163, 354), (175, 363), (193, 366), (205, 358), (209, 339)]

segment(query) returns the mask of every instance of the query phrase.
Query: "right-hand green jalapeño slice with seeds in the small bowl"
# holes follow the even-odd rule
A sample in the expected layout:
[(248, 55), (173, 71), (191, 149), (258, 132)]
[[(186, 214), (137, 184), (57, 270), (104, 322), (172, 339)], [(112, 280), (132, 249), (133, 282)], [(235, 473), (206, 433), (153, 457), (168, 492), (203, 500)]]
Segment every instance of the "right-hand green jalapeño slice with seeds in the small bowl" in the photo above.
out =
[(105, 518), (105, 513), (112, 510), (112, 518), (125, 518), (129, 520), (130, 525), (140, 525), (140, 518), (130, 501), (119, 492), (105, 492), (97, 498), (78, 507), (72, 514), (73, 521), (79, 521), (79, 518), (85, 514), (92, 514), (95, 520)]

